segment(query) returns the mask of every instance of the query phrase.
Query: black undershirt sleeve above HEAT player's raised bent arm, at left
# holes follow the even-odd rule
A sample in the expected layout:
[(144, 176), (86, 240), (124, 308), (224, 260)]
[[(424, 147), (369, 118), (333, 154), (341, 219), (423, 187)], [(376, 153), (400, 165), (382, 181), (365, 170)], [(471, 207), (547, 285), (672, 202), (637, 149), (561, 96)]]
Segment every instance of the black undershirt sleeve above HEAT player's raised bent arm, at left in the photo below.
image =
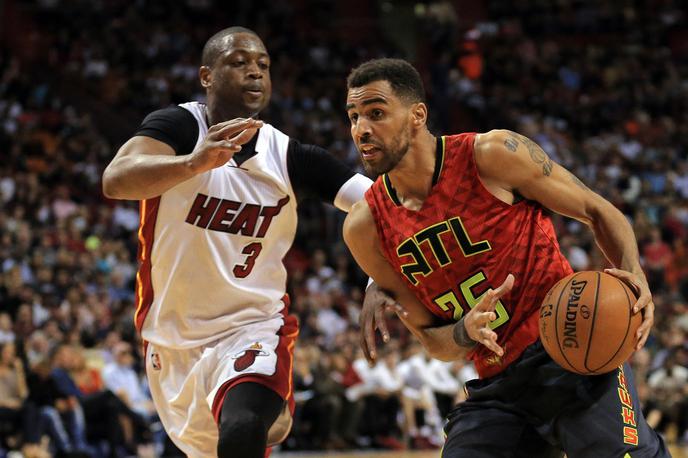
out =
[(146, 116), (134, 135), (167, 143), (177, 155), (189, 154), (198, 140), (198, 123), (188, 110), (171, 106)]

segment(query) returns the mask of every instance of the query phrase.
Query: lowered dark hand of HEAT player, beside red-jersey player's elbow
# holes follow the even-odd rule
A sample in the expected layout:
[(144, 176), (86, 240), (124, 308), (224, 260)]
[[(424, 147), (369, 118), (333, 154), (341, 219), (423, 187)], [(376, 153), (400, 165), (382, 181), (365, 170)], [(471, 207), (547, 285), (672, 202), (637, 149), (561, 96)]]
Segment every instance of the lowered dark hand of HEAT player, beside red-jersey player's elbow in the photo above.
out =
[(385, 322), (385, 312), (388, 310), (402, 316), (407, 314), (401, 304), (387, 295), (376, 283), (371, 283), (366, 289), (363, 307), (358, 318), (358, 324), (361, 327), (361, 348), (370, 364), (373, 364), (377, 358), (375, 330), (380, 330), (384, 342), (389, 340), (389, 331)]

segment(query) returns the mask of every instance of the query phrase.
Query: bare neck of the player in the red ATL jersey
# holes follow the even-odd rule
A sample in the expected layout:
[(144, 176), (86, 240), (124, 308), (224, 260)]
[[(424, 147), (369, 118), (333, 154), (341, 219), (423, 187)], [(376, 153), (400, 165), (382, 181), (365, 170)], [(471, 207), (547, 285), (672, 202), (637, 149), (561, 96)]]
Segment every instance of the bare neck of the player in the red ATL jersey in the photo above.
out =
[(409, 145), (404, 158), (389, 172), (399, 201), (407, 208), (422, 205), (432, 190), (437, 141), (427, 130)]

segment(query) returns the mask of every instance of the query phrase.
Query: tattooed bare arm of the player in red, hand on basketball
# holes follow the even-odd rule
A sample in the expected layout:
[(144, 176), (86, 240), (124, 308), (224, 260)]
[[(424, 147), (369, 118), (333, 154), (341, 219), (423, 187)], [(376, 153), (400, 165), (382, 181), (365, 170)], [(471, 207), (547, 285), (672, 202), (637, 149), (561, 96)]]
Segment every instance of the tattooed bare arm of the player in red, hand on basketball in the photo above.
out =
[(635, 234), (623, 213), (552, 161), (537, 143), (515, 132), (494, 130), (478, 135), (475, 159), (481, 179), (493, 194), (495, 190), (506, 193), (503, 195), (518, 193), (590, 227), (597, 245), (615, 267), (606, 272), (635, 287), (638, 300), (633, 311), (643, 310), (644, 316), (636, 350), (642, 348), (654, 320), (654, 304), (640, 266)]

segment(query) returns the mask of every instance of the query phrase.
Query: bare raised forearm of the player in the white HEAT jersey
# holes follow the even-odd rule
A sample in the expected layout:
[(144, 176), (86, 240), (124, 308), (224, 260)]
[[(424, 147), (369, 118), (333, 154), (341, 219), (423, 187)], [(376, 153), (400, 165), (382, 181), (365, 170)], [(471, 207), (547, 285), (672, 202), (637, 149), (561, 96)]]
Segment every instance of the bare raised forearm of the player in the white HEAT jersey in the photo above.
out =
[(195, 174), (189, 156), (126, 155), (105, 169), (103, 194), (111, 199), (149, 199)]

